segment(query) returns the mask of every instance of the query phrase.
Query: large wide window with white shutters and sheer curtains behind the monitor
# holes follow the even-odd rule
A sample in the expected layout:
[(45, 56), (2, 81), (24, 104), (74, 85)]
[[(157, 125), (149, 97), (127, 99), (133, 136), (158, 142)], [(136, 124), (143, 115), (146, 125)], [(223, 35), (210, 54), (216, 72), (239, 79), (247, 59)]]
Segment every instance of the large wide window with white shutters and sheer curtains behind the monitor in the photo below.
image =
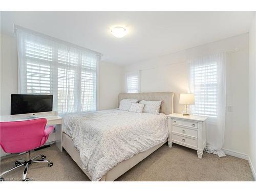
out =
[(59, 114), (97, 109), (100, 54), (16, 27), (19, 93), (53, 94)]

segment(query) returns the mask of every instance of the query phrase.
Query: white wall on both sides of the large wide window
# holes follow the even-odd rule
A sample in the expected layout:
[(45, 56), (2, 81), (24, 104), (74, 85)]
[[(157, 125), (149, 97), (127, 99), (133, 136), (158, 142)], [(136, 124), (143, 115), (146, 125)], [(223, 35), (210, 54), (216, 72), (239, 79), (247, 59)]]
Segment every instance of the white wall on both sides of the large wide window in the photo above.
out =
[[(1, 33), (1, 115), (10, 114), (10, 96), (17, 93), (16, 39)], [(117, 107), (118, 93), (123, 91), (123, 67), (99, 63), (99, 110)]]

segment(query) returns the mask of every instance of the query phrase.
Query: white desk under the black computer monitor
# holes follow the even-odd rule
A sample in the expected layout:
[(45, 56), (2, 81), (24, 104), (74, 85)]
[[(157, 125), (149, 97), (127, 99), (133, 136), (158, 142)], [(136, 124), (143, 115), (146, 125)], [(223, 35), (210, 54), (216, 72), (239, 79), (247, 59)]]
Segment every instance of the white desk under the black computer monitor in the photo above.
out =
[[(28, 118), (28, 117), (32, 117), (32, 118)], [(55, 125), (56, 146), (62, 152), (62, 126), (61, 126), (62, 117), (59, 117), (56, 111), (42, 112), (42, 113), (28, 113), (28, 114), (20, 114), (20, 115), (3, 115), (3, 116), (0, 116), (0, 121), (1, 122), (24, 121), (24, 120), (31, 120), (31, 119), (38, 119), (38, 118), (46, 118), (47, 125)], [(51, 134), (49, 135), (49, 138), (50, 136)]]

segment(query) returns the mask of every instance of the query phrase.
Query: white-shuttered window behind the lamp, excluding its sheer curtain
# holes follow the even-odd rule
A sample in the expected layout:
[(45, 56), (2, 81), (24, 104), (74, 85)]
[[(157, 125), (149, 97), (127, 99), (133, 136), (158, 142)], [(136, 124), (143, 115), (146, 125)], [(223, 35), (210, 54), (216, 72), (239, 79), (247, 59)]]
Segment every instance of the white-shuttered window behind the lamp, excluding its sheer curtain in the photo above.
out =
[(195, 94), (193, 114), (217, 117), (217, 63), (204, 63), (191, 70)]

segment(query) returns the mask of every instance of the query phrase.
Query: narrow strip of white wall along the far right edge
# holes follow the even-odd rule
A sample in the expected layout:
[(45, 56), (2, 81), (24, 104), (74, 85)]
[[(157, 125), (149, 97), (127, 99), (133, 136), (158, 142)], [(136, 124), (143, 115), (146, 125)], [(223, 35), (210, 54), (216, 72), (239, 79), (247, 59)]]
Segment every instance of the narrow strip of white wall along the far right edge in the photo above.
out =
[(256, 180), (256, 15), (249, 32), (249, 161)]

